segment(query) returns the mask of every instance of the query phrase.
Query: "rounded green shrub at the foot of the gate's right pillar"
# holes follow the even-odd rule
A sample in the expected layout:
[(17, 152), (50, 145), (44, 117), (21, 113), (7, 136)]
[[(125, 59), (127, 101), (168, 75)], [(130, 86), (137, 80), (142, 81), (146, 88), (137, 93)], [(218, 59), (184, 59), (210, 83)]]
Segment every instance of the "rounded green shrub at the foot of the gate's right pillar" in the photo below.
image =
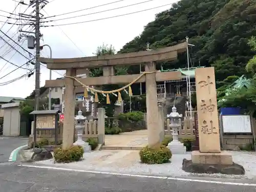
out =
[(140, 150), (139, 154), (141, 163), (147, 164), (167, 163), (172, 157), (172, 152), (164, 145), (156, 148), (145, 146)]

